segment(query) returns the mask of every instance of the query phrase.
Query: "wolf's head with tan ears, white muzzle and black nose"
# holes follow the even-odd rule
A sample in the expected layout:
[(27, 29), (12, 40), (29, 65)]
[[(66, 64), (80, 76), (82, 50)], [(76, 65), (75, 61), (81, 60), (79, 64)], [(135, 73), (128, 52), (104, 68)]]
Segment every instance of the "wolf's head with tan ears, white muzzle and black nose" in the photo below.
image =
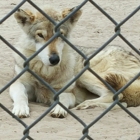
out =
[[(43, 11), (48, 14), (55, 22), (60, 22), (72, 9), (64, 9), (58, 12), (51, 7), (45, 7)], [(69, 38), (72, 28), (81, 16), (81, 10), (72, 15), (63, 25), (60, 26), (60, 32), (66, 38)], [(39, 50), (54, 34), (55, 26), (40, 12), (31, 12), (30, 10), (19, 9), (14, 14), (18, 24), (26, 33), (28, 38), (35, 42), (36, 51)], [(65, 42), (61, 37), (55, 38), (38, 56), (46, 66), (54, 66), (61, 62), (62, 51)]]

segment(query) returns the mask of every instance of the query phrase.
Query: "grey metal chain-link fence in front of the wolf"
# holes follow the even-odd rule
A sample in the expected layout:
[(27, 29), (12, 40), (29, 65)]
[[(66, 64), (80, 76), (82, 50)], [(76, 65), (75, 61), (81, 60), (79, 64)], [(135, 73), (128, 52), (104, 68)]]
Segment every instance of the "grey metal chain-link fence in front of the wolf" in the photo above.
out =
[[(88, 132), (91, 126), (93, 126), (97, 121), (99, 121), (106, 113), (108, 113), (111, 108), (113, 108), (116, 104), (118, 104), (126, 113), (128, 113), (135, 121), (137, 121), (140, 124), (140, 119), (137, 118), (133, 113), (131, 113), (127, 108), (123, 107), (123, 105), (118, 100), (118, 95), (125, 90), (132, 82), (134, 82), (139, 76), (140, 72), (131, 80), (129, 81), (124, 87), (122, 87), (119, 91), (115, 91), (106, 81), (104, 81), (97, 73), (95, 73), (90, 67), (89, 67), (89, 61), (96, 56), (102, 49), (104, 49), (111, 41), (113, 41), (117, 36), (119, 36), (129, 47), (131, 47), (138, 55), (140, 55), (140, 51), (131, 44), (122, 34), (120, 31), (120, 28), (125, 22), (127, 22), (135, 13), (137, 13), (140, 10), (140, 5), (131, 12), (130, 15), (128, 15), (123, 21), (120, 23), (117, 23), (109, 14), (107, 14), (99, 5), (97, 5), (93, 0), (84, 0), (81, 2), (79, 6), (77, 6), (66, 18), (64, 18), (61, 22), (55, 23), (53, 19), (51, 19), (44, 11), (42, 11), (33, 1), (31, 0), (23, 0), (21, 1), (10, 13), (8, 13), (5, 17), (3, 17), (0, 20), (0, 24), (2, 24), (7, 18), (9, 18), (18, 8), (20, 8), (25, 2), (28, 2), (31, 4), (34, 8), (36, 8), (39, 12), (41, 12), (50, 22), (52, 22), (55, 25), (55, 32), (56, 34), (48, 41), (46, 44), (35, 54), (33, 54), (30, 58), (26, 58), (23, 54), (21, 54), (18, 50), (14, 48), (2, 35), (0, 35), (0, 39), (8, 46), (10, 47), (14, 52), (16, 52), (18, 55), (20, 55), (24, 60), (24, 69), (15, 77), (13, 78), (7, 85), (5, 85), (1, 90), (0, 93), (4, 92), (14, 81), (16, 81), (22, 74), (24, 74), (26, 71), (31, 73), (35, 78), (37, 78), (42, 84), (44, 84), (47, 88), (49, 88), (54, 94), (54, 100), (55, 102), (49, 107), (48, 110), (46, 110), (38, 119), (36, 119), (32, 124), (29, 126), (25, 124), (21, 119), (19, 119), (17, 116), (12, 114), (3, 104), (0, 103), (0, 107), (5, 110), (9, 115), (14, 117), (21, 125), (25, 127), (25, 130), (23, 131), (24, 136), (21, 138), (21, 140), (25, 140), (28, 138), (29, 140), (33, 140), (33, 138), (29, 135), (29, 131), (32, 127), (35, 127), (35, 125), (41, 121), (43, 117), (45, 117), (57, 104), (62, 106), (71, 116), (73, 116), (81, 125), (83, 125), (83, 135), (81, 136), (80, 140), (84, 140), (85, 138), (89, 140), (93, 140), (91, 136), (89, 136)], [(86, 57), (84, 53), (82, 53), (78, 48), (76, 48), (75, 45), (73, 45), (70, 41), (68, 41), (64, 36), (59, 34), (59, 27), (68, 19), (70, 18), (76, 11), (78, 11), (81, 7), (83, 7), (87, 2), (90, 2), (94, 7), (96, 7), (104, 16), (106, 16), (116, 27), (114, 29), (115, 33), (112, 37), (110, 37), (109, 40), (107, 40), (99, 49), (97, 49), (90, 57)], [(56, 92), (48, 83), (46, 83), (41, 77), (39, 77), (36, 73), (34, 73), (32, 70), (29, 69), (29, 62), (41, 51), (43, 48), (45, 48), (49, 43), (51, 43), (57, 36), (60, 36), (69, 46), (71, 46), (77, 53), (79, 53), (84, 59), (84, 68), (81, 70), (80, 73), (78, 73), (75, 78), (73, 78), (66, 86), (64, 86), (61, 90)], [(89, 70), (92, 74), (94, 74), (100, 81), (103, 82), (113, 93), (114, 93), (114, 102), (112, 105), (107, 108), (104, 112), (102, 112), (95, 120), (93, 120), (89, 125), (86, 125), (84, 121), (82, 121), (79, 117), (77, 117), (74, 113), (72, 113), (69, 109), (67, 109), (63, 104), (59, 102), (59, 95), (68, 87), (70, 86), (75, 80), (77, 80), (84, 71)], [(139, 140), (140, 138), (138, 138)]]

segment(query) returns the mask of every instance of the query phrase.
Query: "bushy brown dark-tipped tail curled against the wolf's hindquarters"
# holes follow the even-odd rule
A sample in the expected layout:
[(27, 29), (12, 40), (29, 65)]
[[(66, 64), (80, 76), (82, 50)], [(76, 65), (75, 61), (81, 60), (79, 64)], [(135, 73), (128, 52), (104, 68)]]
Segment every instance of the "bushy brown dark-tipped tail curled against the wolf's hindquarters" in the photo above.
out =
[[(108, 82), (116, 91), (122, 88), (127, 80), (124, 76), (119, 74), (109, 74), (105, 77)], [(127, 106), (139, 106), (140, 105), (140, 77), (129, 85), (123, 92), (123, 99), (121, 102), (126, 102)]]

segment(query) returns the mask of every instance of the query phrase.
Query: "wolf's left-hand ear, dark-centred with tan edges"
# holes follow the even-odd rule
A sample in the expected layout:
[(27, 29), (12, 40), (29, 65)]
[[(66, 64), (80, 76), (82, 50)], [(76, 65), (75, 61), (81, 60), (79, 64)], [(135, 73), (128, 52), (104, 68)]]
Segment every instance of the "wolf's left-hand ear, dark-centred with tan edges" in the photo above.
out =
[(17, 23), (26, 31), (29, 26), (34, 22), (35, 16), (29, 10), (18, 9), (14, 14)]

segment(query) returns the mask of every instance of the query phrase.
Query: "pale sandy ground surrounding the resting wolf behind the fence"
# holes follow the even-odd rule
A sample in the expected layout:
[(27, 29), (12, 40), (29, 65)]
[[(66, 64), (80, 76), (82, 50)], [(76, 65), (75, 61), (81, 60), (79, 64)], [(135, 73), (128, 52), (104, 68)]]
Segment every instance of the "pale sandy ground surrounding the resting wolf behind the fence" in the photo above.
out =
[[(121, 2), (121, 1), (115, 2), (115, 0), (113, 0), (111, 2), (111, 0), (108, 0), (108, 4), (106, 4), (106, 5), (104, 5), (104, 3), (106, 3), (106, 2), (99, 1), (99, 3), (97, 4), (96, 3), (97, 1), (93, 1), (93, 0), (83, 0), (83, 1), (78, 0), (76, 3), (74, 2), (74, 0), (72, 0), (70, 2), (64, 2), (64, 3), (63, 2), (58, 3), (57, 1), (53, 1), (53, 0), (51, 2), (54, 3), (54, 5), (60, 4), (60, 7), (65, 7), (65, 5), (67, 7), (68, 6), (72, 7), (73, 5), (76, 5), (77, 7), (75, 8), (74, 11), (72, 11), (69, 14), (69, 16), (67, 16), (64, 20), (62, 20), (56, 24), (53, 21), (53, 19), (51, 19), (47, 14), (45, 14), (39, 8), (38, 5), (41, 5), (41, 2), (39, 3), (34, 0), (32, 0), (32, 1), (15, 0), (12, 3), (11, 1), (7, 1), (7, 5), (8, 4), (10, 5), (10, 10), (8, 9), (8, 11), (5, 11), (6, 7), (8, 7), (8, 6), (5, 6), (5, 4), (3, 4), (4, 0), (2, 0), (0, 2), (1, 3), (0, 8), (2, 11), (2, 14), (0, 13), (0, 24), (1, 24), (1, 27), (0, 27), (1, 47), (0, 47), (0, 49), (2, 50), (0, 53), (0, 55), (1, 55), (0, 58), (4, 58), (6, 56), (5, 59), (3, 59), (4, 61), (6, 61), (6, 59), (9, 59), (8, 58), (8, 56), (9, 56), (10, 57), (9, 62), (12, 61), (10, 63), (9, 62), (5, 63), (5, 65), (1, 65), (2, 67), (1, 67), (1, 75), (0, 75), (0, 79), (1, 79), (0, 114), (2, 114), (2, 115), (0, 116), (0, 127), (1, 127), (0, 133), (3, 137), (3, 139), (8, 138), (8, 136), (5, 132), (5, 131), (8, 131), (8, 132), (11, 132), (9, 135), (9, 136), (11, 136), (11, 140), (12, 139), (13, 140), (15, 140), (15, 139), (32, 140), (32, 139), (40, 139), (40, 137), (42, 137), (41, 139), (48, 138), (50, 140), (54, 140), (54, 139), (61, 139), (61, 140), (66, 140), (66, 139), (68, 139), (68, 140), (72, 140), (72, 139), (74, 139), (74, 140), (77, 140), (77, 139), (80, 139), (80, 140), (84, 140), (84, 139), (89, 139), (89, 140), (93, 140), (93, 139), (95, 139), (95, 140), (96, 139), (97, 140), (103, 140), (103, 139), (132, 140), (132, 139), (136, 139), (136, 140), (139, 140), (140, 139), (140, 107), (130, 108), (130, 109), (123, 107), (121, 105), (121, 103), (118, 101), (118, 95), (140, 76), (140, 72), (131, 81), (129, 81), (123, 88), (121, 88), (119, 91), (116, 92), (100, 77), (100, 75), (97, 75), (89, 67), (90, 59), (93, 58), (94, 56), (96, 56), (96, 54), (98, 54), (102, 49), (104, 49), (107, 45), (111, 44), (113, 41), (114, 41), (113, 43), (119, 44), (120, 46), (125, 46), (125, 49), (131, 49), (131, 51), (138, 58), (140, 58), (140, 51), (139, 51), (140, 47), (138, 46), (140, 43), (140, 36), (139, 36), (140, 5), (139, 5), (139, 1), (130, 1), (130, 0), (127, 1), (126, 0), (124, 2)], [(48, 4), (48, 3), (51, 4), (51, 2), (42, 1), (43, 4)], [(130, 5), (127, 6), (129, 2), (132, 4), (132, 7)], [(16, 38), (14, 38), (13, 32), (17, 32), (18, 29), (16, 29), (14, 27), (15, 26), (14, 24), (10, 23), (12, 21), (11, 18), (13, 18), (11, 16), (18, 8), (20, 8), (21, 6), (24, 6), (25, 4), (33, 6), (34, 8), (39, 10), (53, 24), (55, 24), (56, 33), (59, 32), (58, 29), (63, 24), (63, 22), (65, 22), (69, 17), (71, 17), (77, 10), (83, 8), (83, 13), (84, 13), (84, 7), (87, 5), (87, 7), (85, 7), (84, 16), (85, 17), (89, 16), (89, 20), (87, 20), (87, 21), (90, 23), (88, 25), (88, 22), (84, 21), (84, 18), (83, 18), (83, 22), (79, 21), (80, 22), (79, 26), (77, 26), (77, 28), (76, 28), (77, 32), (76, 31), (74, 32), (75, 38), (79, 35), (78, 40), (75, 42), (78, 45), (81, 45), (81, 44), (86, 45), (86, 42), (89, 43), (89, 46), (92, 46), (95, 44), (96, 46), (98, 46), (98, 49), (90, 57), (87, 57), (82, 51), (80, 51), (76, 48), (76, 46), (74, 45), (75, 43), (68, 41), (65, 37), (62, 37), (62, 39), (64, 41), (66, 41), (70, 47), (72, 47), (75, 51), (77, 51), (77, 53), (79, 53), (85, 59), (85, 63), (84, 63), (85, 67), (83, 70), (81, 70), (81, 72), (75, 78), (73, 78), (72, 81), (70, 81), (70, 83), (68, 83), (65, 87), (63, 87), (58, 92), (54, 92), (54, 90), (48, 83), (44, 82), (38, 75), (36, 75), (36, 73), (34, 73), (33, 71), (31, 71), (29, 69), (28, 64), (37, 55), (37, 53), (35, 53), (33, 56), (31, 56), (30, 58), (27, 59), (20, 52), (18, 52), (15, 49), (15, 47), (12, 43), (12, 41), (16, 42)], [(121, 4), (124, 7), (126, 6), (125, 8), (123, 8), (123, 10), (121, 9), (122, 8), (120, 6)], [(88, 11), (88, 6), (91, 11)], [(122, 10), (124, 13), (121, 13), (122, 11), (120, 13), (119, 13), (119, 11), (116, 13), (113, 13), (112, 7), (116, 8), (117, 10), (119, 10), (119, 9)], [(129, 10), (127, 11), (128, 7), (129, 7)], [(126, 12), (125, 12), (125, 10), (126, 10)], [(117, 13), (119, 13), (119, 14), (115, 17), (115, 16), (112, 16), (113, 14), (111, 15), (111, 12), (114, 15), (117, 15)], [(93, 17), (91, 15), (87, 15), (87, 13), (93, 14)], [(123, 15), (121, 17), (121, 19), (119, 18), (119, 15)], [(99, 27), (97, 24), (97, 20), (102, 22), (99, 25)], [(127, 22), (129, 22), (129, 21), (131, 23), (127, 24)], [(95, 22), (95, 24), (92, 25), (91, 24), (92, 22)], [(86, 24), (86, 25), (84, 25), (84, 24)], [(7, 30), (7, 26), (8, 26), (8, 30)], [(132, 32), (130, 30), (123, 31), (123, 28), (125, 28), (125, 26), (127, 29), (131, 28)], [(83, 27), (84, 27), (84, 29), (83, 29)], [(95, 27), (95, 30), (93, 29), (94, 33), (90, 34), (90, 32), (88, 32), (88, 33), (86, 33), (86, 36), (84, 36), (84, 32), (86, 32), (86, 28), (89, 29), (89, 31), (90, 31), (94, 27)], [(9, 31), (9, 28), (11, 28), (11, 31)], [(133, 30), (135, 31), (134, 35), (133, 35)], [(80, 34), (80, 32), (82, 32), (82, 33)], [(104, 32), (107, 34), (104, 34)], [(8, 34), (8, 39), (7, 39), (7, 34)], [(78, 34), (78, 35), (76, 36), (76, 34)], [(19, 35), (19, 32), (18, 32), (18, 35)], [(84, 37), (82, 38), (81, 36), (84, 36)], [(18, 36), (16, 36), (16, 37), (18, 38)], [(94, 40), (94, 37), (95, 37), (95, 40)], [(133, 39), (131, 39), (131, 37)], [(90, 38), (89, 42), (88, 42), (88, 38)], [(83, 40), (83, 42), (81, 40)], [(93, 44), (93, 42), (91, 40), (95, 41), (95, 43)], [(46, 47), (50, 42), (51, 42), (51, 40), (49, 40), (44, 47)], [(98, 42), (100, 42), (100, 43), (98, 43)], [(5, 46), (7, 47), (7, 49)], [(13, 71), (13, 65), (14, 65), (14, 61), (12, 60), (12, 56), (11, 56), (11, 52), (13, 52), (13, 51), (15, 53), (18, 53), (25, 60), (24, 69), (15, 78), (12, 78), (13, 76), (11, 75), (11, 73), (12, 73), (11, 71)], [(2, 62), (3, 60), (1, 59), (0, 62)], [(12, 70), (10, 70), (10, 71), (8, 70), (8, 72), (6, 72), (6, 68), (7, 69), (11, 68)], [(59, 102), (59, 95), (69, 85), (71, 85), (85, 70), (89, 70), (91, 73), (93, 73), (114, 93), (114, 102), (108, 109), (103, 110), (101, 108), (95, 108), (95, 109), (89, 109), (88, 111), (87, 110), (76, 111), (73, 109), (69, 110), (69, 109), (65, 108), (63, 106), (63, 104), (61, 104)], [(2, 73), (2, 71), (5, 71), (5, 73)], [(9, 106), (8, 102), (10, 102), (10, 104), (12, 104), (12, 102), (9, 99), (7, 99), (7, 98), (9, 98), (7, 95), (7, 89), (16, 79), (18, 79), (26, 71), (30, 72), (34, 77), (36, 77), (40, 82), (42, 82), (52, 92), (54, 92), (55, 102), (50, 107), (44, 107), (42, 105), (31, 103), (31, 108), (35, 108), (36, 106), (39, 106), (37, 108), (37, 110), (39, 111), (40, 114), (37, 113), (38, 111), (32, 112), (31, 118), (19, 119), (14, 114), (12, 114), (10, 111), (11, 106)], [(4, 78), (6, 78), (6, 79), (4, 80)], [(59, 120), (59, 119), (50, 118), (48, 116), (50, 110), (52, 110), (52, 108), (55, 107), (55, 105), (57, 105), (57, 104), (59, 104), (60, 106), (62, 106), (64, 109), (66, 109), (68, 111), (68, 113), (69, 113), (68, 118), (66, 118), (64, 120), (63, 119)], [(121, 112), (115, 110), (115, 111), (113, 111), (114, 114), (112, 114), (111, 108), (116, 104), (118, 104), (121, 107)], [(84, 116), (83, 115), (81, 116), (81, 114), (79, 112), (82, 112), (82, 114), (84, 114)], [(92, 115), (91, 115), (91, 112), (92, 112)], [(94, 112), (96, 112), (96, 113), (94, 113)], [(87, 118), (86, 115), (87, 116), (89, 115), (90, 117)], [(116, 118), (118, 118), (118, 120), (119, 120), (119, 118), (121, 118), (121, 115), (123, 116), (124, 120), (116, 121)], [(32, 118), (32, 116), (34, 116), (34, 118)], [(13, 118), (11, 118), (11, 117), (13, 117)], [(131, 122), (134, 122), (133, 125), (131, 126), (131, 128), (134, 128), (134, 131), (130, 128), (129, 131), (125, 131), (124, 133), (122, 133), (124, 127), (125, 128), (130, 127), (128, 125), (125, 126), (123, 124), (123, 121), (125, 122), (125, 119), (127, 117), (131, 120)], [(110, 121), (109, 119), (111, 119), (111, 118), (114, 118), (114, 119), (112, 121)], [(10, 119), (11, 121), (14, 120), (14, 122), (9, 122), (8, 119)], [(72, 122), (67, 124), (70, 119), (72, 120)], [(8, 122), (9, 124), (8, 123), (5, 124), (5, 122)], [(41, 124), (41, 122), (42, 122), (42, 124)], [(53, 123), (53, 122), (55, 122), (55, 123)], [(118, 122), (120, 124), (118, 124)], [(14, 125), (15, 123), (17, 124), (17, 127), (20, 129), (20, 131)], [(104, 125), (101, 125), (101, 123)], [(113, 123), (113, 124), (110, 124), (110, 123)], [(112, 127), (112, 129), (110, 129), (110, 131), (107, 131), (108, 124), (110, 124), (110, 126)], [(9, 125), (10, 125), (11, 129), (7, 130)], [(13, 125), (13, 127), (12, 127), (12, 125)], [(45, 125), (45, 127), (43, 125)], [(54, 126), (52, 126), (52, 125), (54, 125)], [(62, 125), (64, 125), (63, 129), (61, 129)], [(117, 126), (117, 125), (121, 125), (119, 127), (119, 130), (121, 128), (121, 130), (120, 130), (121, 132), (115, 131), (115, 126)], [(123, 127), (123, 125), (124, 125), (124, 127)], [(78, 126), (78, 127), (75, 128), (75, 126)], [(40, 128), (39, 130), (38, 130), (38, 127)], [(67, 131), (65, 131), (66, 129), (67, 129)], [(62, 132), (60, 132), (59, 130), (61, 130)], [(22, 136), (22, 132), (23, 132), (23, 136)], [(78, 135), (76, 134), (77, 132), (78, 132)], [(104, 133), (104, 135), (99, 136), (102, 133)], [(130, 134), (130, 136), (129, 136), (129, 134)]]

